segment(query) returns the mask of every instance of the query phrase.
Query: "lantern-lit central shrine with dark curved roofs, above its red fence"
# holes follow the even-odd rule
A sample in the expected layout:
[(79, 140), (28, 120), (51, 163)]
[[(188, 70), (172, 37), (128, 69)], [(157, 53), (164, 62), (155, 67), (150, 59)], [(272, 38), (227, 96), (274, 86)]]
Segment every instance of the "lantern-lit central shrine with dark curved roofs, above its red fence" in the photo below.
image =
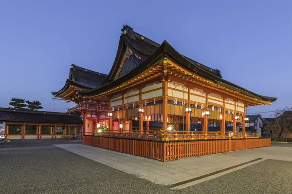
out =
[(218, 69), (182, 55), (165, 40), (158, 44), (128, 25), (121, 31), (109, 75), (72, 65), (64, 87), (52, 93), (76, 104), (68, 113), (83, 118), (83, 135), (99, 127), (115, 135), (161, 129), (178, 131), (176, 140), (180, 131), (216, 129), (223, 138), (227, 128), (245, 133), (246, 107), (277, 99), (224, 80)]

